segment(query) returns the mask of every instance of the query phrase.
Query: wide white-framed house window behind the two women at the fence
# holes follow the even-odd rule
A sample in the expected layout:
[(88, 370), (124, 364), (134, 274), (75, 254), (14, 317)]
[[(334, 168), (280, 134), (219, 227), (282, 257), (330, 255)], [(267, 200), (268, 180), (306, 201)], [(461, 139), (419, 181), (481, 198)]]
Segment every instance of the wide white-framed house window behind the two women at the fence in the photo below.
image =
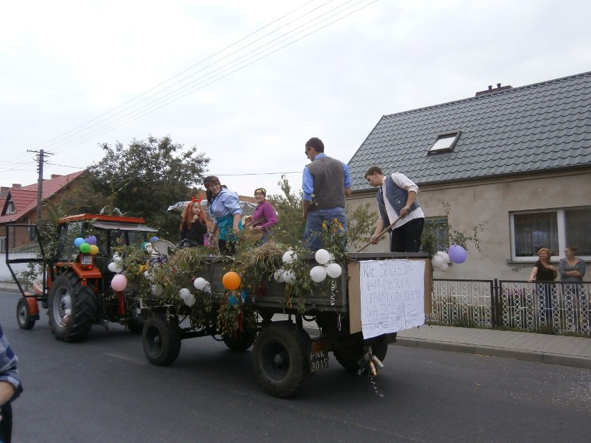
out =
[(591, 207), (515, 212), (511, 218), (512, 259), (538, 259), (547, 247), (554, 260), (563, 257), (566, 246), (577, 247), (577, 255), (591, 257)]

